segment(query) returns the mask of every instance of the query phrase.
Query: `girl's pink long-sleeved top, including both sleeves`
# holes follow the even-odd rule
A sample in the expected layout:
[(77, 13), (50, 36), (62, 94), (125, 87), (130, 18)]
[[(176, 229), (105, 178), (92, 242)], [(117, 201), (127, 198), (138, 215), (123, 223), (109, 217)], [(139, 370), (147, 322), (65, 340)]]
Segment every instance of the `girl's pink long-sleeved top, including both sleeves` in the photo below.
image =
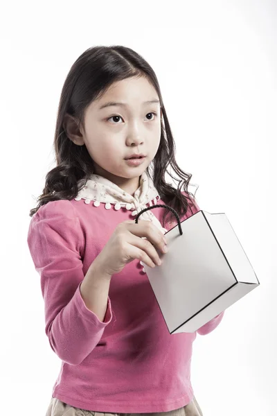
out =
[[(199, 211), (194, 203), (193, 214)], [(161, 222), (163, 211), (157, 207), (152, 214)], [(188, 209), (180, 220), (193, 214)], [(194, 333), (170, 334), (143, 266), (134, 260), (111, 277), (101, 322), (84, 304), (80, 284), (116, 225), (128, 219), (134, 216), (125, 208), (57, 200), (30, 220), (28, 247), (41, 279), (45, 332), (62, 361), (52, 396), (103, 413), (168, 412), (193, 399), (193, 341), (197, 333), (211, 333), (224, 312)]]

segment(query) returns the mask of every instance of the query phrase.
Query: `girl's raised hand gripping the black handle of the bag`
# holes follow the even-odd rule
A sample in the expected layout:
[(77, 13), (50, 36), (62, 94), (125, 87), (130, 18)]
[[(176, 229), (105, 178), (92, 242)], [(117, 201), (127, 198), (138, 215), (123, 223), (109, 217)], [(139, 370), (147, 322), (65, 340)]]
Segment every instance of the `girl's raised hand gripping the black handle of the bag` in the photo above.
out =
[(151, 221), (140, 220), (134, 223), (133, 220), (126, 220), (117, 225), (94, 261), (97, 262), (99, 270), (110, 276), (119, 273), (134, 259), (155, 267), (159, 264), (159, 254), (154, 245), (165, 253), (166, 251), (163, 251), (165, 244), (166, 239), (162, 232)]

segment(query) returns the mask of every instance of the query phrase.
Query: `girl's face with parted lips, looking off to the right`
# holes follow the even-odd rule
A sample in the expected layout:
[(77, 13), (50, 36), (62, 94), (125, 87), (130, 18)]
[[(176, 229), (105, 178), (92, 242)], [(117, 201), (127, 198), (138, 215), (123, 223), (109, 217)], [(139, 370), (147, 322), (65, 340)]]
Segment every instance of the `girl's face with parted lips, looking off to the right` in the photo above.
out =
[[(161, 139), (161, 107), (154, 87), (145, 78), (128, 78), (114, 83), (84, 114), (83, 143), (95, 169), (131, 195), (139, 187), (139, 177), (157, 153)], [(108, 101), (126, 103), (100, 109)], [(155, 114), (149, 114), (149, 113)], [(115, 117), (116, 116), (116, 117)], [(146, 155), (142, 164), (129, 166), (125, 157)]]

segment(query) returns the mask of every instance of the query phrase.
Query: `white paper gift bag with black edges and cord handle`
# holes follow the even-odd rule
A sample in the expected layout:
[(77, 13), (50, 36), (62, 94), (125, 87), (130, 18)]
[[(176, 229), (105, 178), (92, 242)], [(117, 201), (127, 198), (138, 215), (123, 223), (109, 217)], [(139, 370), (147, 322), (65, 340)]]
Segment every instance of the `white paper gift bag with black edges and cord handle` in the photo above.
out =
[(198, 211), (166, 234), (163, 264), (141, 262), (170, 333), (194, 332), (260, 285), (224, 213)]

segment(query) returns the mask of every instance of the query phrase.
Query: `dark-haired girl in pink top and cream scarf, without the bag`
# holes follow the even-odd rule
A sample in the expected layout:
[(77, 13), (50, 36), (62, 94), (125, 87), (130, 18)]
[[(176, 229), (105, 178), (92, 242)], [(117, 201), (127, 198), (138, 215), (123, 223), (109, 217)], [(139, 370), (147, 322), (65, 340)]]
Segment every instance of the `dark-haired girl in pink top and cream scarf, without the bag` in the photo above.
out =
[[(197, 333), (169, 333), (141, 263), (159, 266), (177, 222), (161, 207), (134, 222), (158, 201), (181, 221), (199, 211), (148, 62), (124, 46), (82, 53), (62, 88), (54, 145), (57, 166), (28, 230), (46, 336), (62, 360), (46, 416), (203, 415), (193, 341), (223, 313)], [(169, 165), (178, 189), (165, 180)]]

